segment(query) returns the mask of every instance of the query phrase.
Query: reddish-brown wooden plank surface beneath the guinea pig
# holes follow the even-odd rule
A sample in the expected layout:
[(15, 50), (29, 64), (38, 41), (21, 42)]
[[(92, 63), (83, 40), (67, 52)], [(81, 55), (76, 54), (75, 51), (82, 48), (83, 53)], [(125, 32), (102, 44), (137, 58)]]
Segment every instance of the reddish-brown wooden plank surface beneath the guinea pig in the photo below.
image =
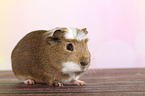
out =
[(89, 70), (81, 80), (87, 85), (25, 85), (12, 72), (0, 71), (0, 96), (145, 96), (145, 69)]

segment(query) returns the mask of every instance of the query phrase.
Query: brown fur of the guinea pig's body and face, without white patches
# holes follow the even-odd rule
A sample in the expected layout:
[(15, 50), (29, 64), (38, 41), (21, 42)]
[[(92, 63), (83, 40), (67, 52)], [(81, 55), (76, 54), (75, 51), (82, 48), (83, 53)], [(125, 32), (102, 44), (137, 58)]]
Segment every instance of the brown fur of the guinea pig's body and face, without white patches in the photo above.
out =
[[(65, 28), (62, 29), (60, 33), (56, 32), (53, 36), (45, 30), (34, 31), (18, 42), (11, 56), (12, 69), (17, 78), (32, 79), (49, 85), (55, 82), (63, 83), (69, 79), (69, 75), (62, 72), (62, 62), (73, 61), (81, 68), (83, 66), (80, 62), (90, 64), (87, 39), (81, 41), (65, 39)], [(68, 42), (74, 46), (72, 52), (66, 49)], [(74, 73), (77, 76), (83, 71)]]

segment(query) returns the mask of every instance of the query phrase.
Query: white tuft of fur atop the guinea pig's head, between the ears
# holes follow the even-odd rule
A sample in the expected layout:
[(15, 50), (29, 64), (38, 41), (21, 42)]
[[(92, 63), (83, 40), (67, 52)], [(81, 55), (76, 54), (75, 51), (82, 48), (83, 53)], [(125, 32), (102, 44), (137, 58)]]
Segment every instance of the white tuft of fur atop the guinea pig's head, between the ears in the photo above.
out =
[(67, 32), (65, 34), (66, 39), (77, 39), (79, 41), (86, 39), (86, 35), (82, 31), (78, 31), (77, 28), (67, 27)]

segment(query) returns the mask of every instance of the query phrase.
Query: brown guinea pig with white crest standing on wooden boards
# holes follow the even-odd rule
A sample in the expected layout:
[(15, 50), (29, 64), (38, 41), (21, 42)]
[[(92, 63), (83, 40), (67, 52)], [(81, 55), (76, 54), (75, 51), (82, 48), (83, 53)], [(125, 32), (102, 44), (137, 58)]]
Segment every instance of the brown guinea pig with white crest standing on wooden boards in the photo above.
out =
[(11, 54), (15, 76), (26, 85), (36, 82), (61, 87), (65, 83), (85, 85), (79, 80), (90, 65), (86, 28), (57, 27), (24, 36)]

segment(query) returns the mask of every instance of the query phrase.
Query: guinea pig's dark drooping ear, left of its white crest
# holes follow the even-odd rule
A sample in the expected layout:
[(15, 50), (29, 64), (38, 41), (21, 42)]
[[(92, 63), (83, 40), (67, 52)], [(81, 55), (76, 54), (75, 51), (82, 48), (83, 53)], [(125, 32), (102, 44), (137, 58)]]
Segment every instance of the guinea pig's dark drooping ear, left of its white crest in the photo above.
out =
[(60, 40), (62, 40), (63, 38), (64, 38), (64, 31), (62, 31), (62, 30), (56, 30), (53, 33), (52, 37), (47, 37), (46, 42), (49, 45), (53, 45), (53, 44), (56, 44), (56, 43), (60, 42)]

